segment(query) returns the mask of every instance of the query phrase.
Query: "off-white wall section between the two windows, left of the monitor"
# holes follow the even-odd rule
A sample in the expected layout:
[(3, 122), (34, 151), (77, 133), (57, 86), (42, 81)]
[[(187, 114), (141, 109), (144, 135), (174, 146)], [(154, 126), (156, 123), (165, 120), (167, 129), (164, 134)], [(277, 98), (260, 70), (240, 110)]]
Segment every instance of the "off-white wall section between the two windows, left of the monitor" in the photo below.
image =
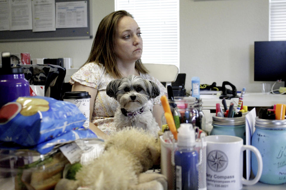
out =
[[(261, 92), (254, 82), (254, 41), (268, 41), (268, 0), (181, 0), (180, 71), (201, 84), (229, 81)], [(230, 88), (230, 86), (228, 86)]]

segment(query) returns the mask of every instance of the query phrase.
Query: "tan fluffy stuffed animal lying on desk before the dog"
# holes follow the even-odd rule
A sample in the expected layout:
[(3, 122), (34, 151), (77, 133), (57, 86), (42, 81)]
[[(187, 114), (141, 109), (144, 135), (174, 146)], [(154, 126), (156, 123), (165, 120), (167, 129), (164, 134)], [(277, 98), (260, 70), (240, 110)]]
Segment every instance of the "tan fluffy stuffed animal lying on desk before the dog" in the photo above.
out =
[(76, 174), (77, 181), (62, 179), (55, 190), (87, 187), (93, 190), (166, 190), (166, 177), (144, 173), (160, 164), (160, 143), (142, 129), (128, 128), (105, 141), (105, 151)]

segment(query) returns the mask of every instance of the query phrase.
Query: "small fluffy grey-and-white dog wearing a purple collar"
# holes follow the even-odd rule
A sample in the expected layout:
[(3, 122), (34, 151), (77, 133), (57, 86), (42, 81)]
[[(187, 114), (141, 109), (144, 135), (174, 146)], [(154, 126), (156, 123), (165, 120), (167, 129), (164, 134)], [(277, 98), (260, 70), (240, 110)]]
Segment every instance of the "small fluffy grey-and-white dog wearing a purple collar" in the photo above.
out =
[(150, 110), (150, 104), (148, 105), (150, 98), (160, 94), (155, 83), (140, 76), (130, 75), (112, 80), (106, 87), (106, 94), (119, 102), (114, 113), (117, 129), (133, 126), (157, 135), (160, 128)]

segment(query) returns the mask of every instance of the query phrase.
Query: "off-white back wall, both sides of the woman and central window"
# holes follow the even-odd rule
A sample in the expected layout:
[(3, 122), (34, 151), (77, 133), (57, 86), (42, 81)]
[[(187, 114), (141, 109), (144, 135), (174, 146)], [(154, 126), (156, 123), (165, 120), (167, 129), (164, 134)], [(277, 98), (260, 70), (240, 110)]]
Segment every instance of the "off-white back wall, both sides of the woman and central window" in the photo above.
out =
[[(93, 36), (100, 20), (114, 11), (114, 0), (92, 0)], [(180, 71), (201, 84), (229, 81), (240, 91), (260, 92), (254, 82), (254, 41), (268, 40), (268, 0), (181, 0)], [(2, 42), (1, 51), (29, 52), (32, 58), (71, 57), (74, 67), (87, 59), (93, 39)]]

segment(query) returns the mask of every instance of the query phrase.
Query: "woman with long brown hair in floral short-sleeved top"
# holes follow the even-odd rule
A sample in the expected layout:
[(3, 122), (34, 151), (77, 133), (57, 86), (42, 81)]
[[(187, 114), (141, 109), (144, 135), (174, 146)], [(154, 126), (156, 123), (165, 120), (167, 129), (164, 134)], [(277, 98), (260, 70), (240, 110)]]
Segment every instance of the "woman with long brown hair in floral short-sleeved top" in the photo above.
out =
[(89, 127), (102, 139), (116, 130), (113, 115), (118, 105), (106, 94), (106, 86), (128, 75), (142, 76), (159, 86), (161, 94), (152, 101), (153, 115), (160, 126), (160, 97), (167, 90), (147, 74), (141, 62), (142, 46), (140, 28), (132, 15), (123, 10), (112, 12), (100, 22), (88, 60), (71, 76), (72, 91), (88, 91), (91, 95)]

